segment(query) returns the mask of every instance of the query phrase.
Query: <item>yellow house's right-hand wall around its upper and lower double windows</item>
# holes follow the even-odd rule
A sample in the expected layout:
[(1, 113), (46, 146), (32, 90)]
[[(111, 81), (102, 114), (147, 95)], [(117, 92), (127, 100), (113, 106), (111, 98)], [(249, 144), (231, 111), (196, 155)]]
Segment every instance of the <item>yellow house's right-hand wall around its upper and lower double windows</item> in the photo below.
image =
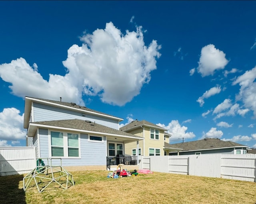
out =
[(150, 128), (145, 127), (144, 128), (144, 134), (145, 134), (145, 155), (149, 156), (149, 148), (155, 148), (160, 149), (160, 155), (164, 156), (164, 131), (159, 130), (159, 140), (157, 139), (150, 139)]

